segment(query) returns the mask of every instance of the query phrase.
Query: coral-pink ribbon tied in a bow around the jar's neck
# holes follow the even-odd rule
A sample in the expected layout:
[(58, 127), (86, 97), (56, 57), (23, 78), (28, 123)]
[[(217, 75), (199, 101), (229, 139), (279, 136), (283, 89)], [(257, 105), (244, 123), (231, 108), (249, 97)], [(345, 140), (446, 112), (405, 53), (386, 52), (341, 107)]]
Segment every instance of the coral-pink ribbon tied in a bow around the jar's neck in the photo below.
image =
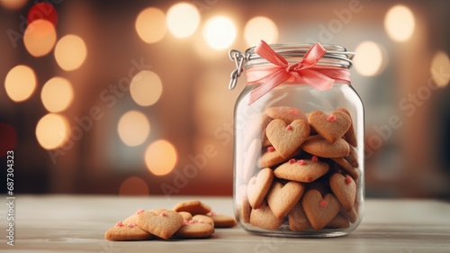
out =
[(316, 66), (327, 53), (320, 43), (314, 44), (302, 60), (292, 65), (272, 50), (265, 41), (257, 45), (255, 52), (274, 65), (247, 69), (247, 86), (261, 84), (251, 92), (248, 104), (254, 103), (282, 83), (310, 85), (320, 91), (328, 90), (335, 81), (350, 84), (350, 72), (347, 68)]

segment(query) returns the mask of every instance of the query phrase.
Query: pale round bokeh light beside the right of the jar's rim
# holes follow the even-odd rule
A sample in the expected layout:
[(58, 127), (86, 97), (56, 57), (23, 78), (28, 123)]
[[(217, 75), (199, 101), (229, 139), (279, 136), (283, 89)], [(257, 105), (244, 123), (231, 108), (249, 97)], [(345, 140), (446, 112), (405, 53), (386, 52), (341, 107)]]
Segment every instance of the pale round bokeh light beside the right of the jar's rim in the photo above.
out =
[(364, 41), (355, 50), (353, 60), (356, 71), (366, 77), (380, 74), (386, 65), (383, 50), (374, 41)]

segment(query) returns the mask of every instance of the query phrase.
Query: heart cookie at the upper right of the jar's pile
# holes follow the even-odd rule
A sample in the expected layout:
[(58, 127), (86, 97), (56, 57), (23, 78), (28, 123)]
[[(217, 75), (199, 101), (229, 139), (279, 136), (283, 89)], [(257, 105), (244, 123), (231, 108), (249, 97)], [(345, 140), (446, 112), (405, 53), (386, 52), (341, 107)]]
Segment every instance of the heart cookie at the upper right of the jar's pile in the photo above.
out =
[(308, 122), (310, 122), (311, 128), (329, 143), (341, 139), (352, 125), (351, 118), (342, 111), (335, 111), (331, 114), (314, 111), (308, 115)]

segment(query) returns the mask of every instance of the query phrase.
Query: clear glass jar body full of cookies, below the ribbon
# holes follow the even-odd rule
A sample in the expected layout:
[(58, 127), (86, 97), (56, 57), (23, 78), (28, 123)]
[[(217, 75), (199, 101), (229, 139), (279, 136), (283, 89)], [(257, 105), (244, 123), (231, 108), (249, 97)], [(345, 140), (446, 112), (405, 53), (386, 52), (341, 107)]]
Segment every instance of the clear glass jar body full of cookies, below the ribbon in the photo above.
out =
[(347, 235), (365, 202), (364, 107), (352, 86), (281, 84), (234, 112), (234, 206), (249, 232)]

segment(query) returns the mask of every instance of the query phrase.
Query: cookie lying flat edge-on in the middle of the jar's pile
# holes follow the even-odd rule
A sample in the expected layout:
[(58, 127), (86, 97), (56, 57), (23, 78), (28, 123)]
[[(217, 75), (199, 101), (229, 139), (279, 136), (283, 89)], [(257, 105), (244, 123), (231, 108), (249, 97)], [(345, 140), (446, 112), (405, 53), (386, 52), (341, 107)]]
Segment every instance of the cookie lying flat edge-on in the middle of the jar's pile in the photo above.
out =
[(329, 164), (319, 160), (290, 159), (276, 167), (274, 175), (278, 178), (293, 180), (303, 183), (311, 183), (329, 171)]

